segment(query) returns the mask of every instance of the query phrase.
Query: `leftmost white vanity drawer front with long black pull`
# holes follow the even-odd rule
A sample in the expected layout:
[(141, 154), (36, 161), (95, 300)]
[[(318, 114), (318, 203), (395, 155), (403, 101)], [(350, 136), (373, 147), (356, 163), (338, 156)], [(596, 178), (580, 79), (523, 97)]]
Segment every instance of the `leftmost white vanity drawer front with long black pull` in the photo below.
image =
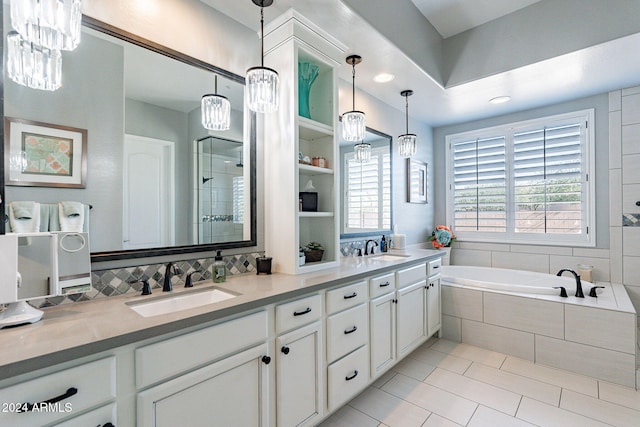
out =
[[(116, 358), (84, 363), (0, 389), (1, 426), (116, 425)], [(28, 412), (24, 410), (32, 404)]]

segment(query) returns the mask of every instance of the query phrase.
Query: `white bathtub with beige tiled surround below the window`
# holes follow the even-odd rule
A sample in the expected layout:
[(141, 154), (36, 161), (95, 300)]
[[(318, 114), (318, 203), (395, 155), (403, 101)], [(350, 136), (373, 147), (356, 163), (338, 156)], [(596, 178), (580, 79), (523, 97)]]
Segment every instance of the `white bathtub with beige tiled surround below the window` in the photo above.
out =
[[(636, 387), (636, 313), (624, 286), (489, 267), (441, 268), (441, 336)], [(568, 297), (554, 287), (563, 286)]]

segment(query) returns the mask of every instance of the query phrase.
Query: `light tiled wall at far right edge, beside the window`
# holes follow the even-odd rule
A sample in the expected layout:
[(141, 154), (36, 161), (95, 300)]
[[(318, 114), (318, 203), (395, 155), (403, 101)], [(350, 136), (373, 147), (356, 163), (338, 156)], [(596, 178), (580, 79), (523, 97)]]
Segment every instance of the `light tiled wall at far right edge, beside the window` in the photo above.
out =
[[(640, 311), (640, 87), (609, 93), (611, 281)], [(639, 318), (640, 319), (640, 318)]]

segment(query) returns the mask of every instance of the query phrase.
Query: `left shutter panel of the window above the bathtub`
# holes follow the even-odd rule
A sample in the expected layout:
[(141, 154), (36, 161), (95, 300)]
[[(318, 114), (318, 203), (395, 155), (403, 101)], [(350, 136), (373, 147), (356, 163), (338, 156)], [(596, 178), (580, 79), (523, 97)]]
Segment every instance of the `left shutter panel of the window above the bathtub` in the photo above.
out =
[(454, 229), (506, 232), (505, 137), (458, 141), (451, 150)]

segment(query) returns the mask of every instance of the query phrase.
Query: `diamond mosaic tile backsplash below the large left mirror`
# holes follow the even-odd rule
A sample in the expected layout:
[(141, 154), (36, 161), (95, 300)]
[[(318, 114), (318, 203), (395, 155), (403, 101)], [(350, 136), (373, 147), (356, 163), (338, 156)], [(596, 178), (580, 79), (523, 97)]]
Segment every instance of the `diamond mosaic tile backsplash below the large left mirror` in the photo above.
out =
[[(227, 263), (227, 275), (243, 274), (256, 271), (256, 258), (263, 253), (248, 253), (224, 257)], [(211, 280), (211, 266), (214, 258), (199, 258), (186, 261), (176, 261), (180, 269), (179, 274), (173, 275), (171, 282), (174, 287), (184, 286), (187, 275), (192, 272), (202, 272), (202, 277), (194, 274), (195, 282)], [(162, 289), (166, 263), (140, 265), (136, 267), (118, 268), (113, 270), (96, 270), (91, 272), (93, 289), (91, 292), (74, 295), (56, 296), (30, 300), (29, 303), (37, 308), (68, 304), (77, 301), (89, 301), (96, 298), (124, 295), (142, 292), (139, 280), (148, 279), (152, 289)]]

